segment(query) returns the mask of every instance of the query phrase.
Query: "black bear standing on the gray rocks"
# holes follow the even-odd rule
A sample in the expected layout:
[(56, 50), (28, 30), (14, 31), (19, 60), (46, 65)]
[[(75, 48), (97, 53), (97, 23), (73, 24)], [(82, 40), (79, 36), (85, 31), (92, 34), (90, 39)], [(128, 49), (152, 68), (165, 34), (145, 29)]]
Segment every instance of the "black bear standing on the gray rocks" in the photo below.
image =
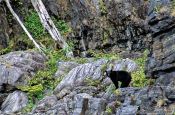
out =
[(106, 71), (107, 77), (109, 77), (112, 82), (114, 83), (116, 89), (118, 89), (118, 81), (120, 81), (121, 88), (122, 87), (128, 87), (129, 83), (131, 82), (131, 74), (128, 73), (127, 71)]

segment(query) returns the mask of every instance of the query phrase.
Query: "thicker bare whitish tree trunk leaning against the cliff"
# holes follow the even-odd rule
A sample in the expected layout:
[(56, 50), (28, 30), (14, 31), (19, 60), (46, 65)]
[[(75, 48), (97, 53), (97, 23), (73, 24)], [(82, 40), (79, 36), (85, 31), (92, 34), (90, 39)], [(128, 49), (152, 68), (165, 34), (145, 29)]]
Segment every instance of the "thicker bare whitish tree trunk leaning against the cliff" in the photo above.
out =
[(31, 0), (31, 2), (35, 10), (37, 11), (44, 28), (47, 29), (51, 37), (60, 45), (60, 47), (66, 50), (66, 55), (72, 57), (73, 56), (72, 51), (69, 49), (68, 44), (63, 39), (60, 32), (57, 30), (56, 26), (54, 25), (42, 0)]

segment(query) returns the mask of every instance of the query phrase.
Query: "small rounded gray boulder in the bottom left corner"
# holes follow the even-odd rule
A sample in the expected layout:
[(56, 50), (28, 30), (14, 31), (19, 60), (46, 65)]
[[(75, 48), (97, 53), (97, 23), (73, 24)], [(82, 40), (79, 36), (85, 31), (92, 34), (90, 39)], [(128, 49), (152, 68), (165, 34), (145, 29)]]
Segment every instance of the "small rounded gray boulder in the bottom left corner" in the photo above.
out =
[(21, 91), (15, 91), (8, 95), (6, 100), (1, 106), (1, 111), (3, 113), (14, 113), (19, 112), (28, 103), (27, 95)]

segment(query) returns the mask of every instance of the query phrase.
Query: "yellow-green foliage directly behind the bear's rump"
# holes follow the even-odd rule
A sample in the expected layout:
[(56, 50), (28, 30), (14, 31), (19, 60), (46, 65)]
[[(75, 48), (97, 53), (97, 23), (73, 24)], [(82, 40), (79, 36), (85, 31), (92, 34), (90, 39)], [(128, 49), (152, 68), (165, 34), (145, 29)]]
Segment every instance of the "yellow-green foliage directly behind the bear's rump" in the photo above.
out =
[(146, 59), (147, 50), (144, 52), (143, 57), (140, 57), (135, 60), (135, 62), (139, 66), (139, 69), (132, 73), (132, 86), (134, 87), (144, 87), (148, 84), (148, 79), (146, 79), (144, 73)]

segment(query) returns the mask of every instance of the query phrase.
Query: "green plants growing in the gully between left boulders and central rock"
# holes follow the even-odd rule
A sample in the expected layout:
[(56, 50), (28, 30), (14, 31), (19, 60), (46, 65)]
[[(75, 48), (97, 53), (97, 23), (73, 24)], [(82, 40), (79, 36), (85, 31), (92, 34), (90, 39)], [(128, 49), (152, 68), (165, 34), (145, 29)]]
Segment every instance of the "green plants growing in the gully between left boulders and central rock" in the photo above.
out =
[(47, 68), (44, 70), (40, 70), (36, 73), (36, 75), (29, 80), (27, 86), (18, 86), (17, 88), (27, 92), (29, 97), (29, 103), (27, 107), (23, 109), (23, 112), (31, 111), (32, 107), (35, 103), (44, 97), (45, 90), (51, 90), (56, 87), (56, 85), (61, 81), (60, 79), (56, 79), (53, 77), (55, 72), (57, 71), (56, 62), (58, 60), (68, 60), (65, 57), (64, 52), (60, 51), (47, 51), (47, 56), (49, 57), (46, 62)]

